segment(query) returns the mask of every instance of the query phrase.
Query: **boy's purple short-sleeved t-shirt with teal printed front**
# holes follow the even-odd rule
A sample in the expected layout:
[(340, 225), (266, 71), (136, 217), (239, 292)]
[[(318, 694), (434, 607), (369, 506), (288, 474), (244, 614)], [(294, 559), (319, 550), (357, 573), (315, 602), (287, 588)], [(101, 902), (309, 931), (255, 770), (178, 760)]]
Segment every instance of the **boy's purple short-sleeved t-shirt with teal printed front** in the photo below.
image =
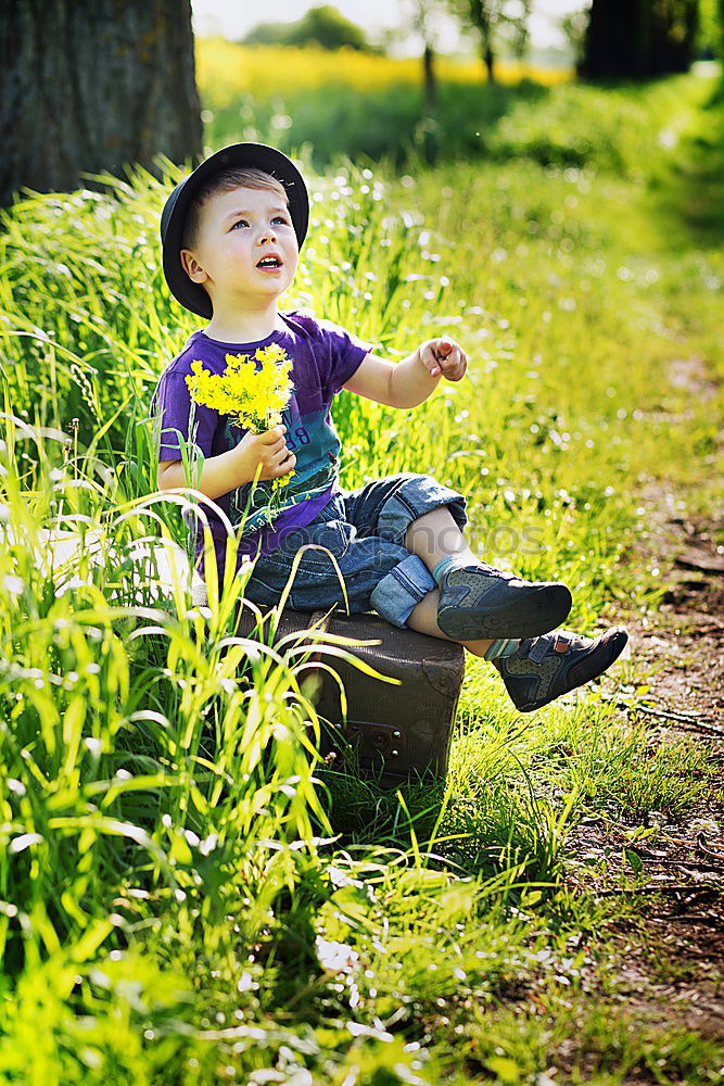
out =
[[(251, 354), (271, 343), (279, 344), (292, 361), (290, 374), (293, 392), (282, 422), (287, 427), (287, 446), (296, 456), (294, 475), (278, 488), (272, 501), (271, 480), (245, 483), (216, 498), (216, 505), (234, 528), (243, 521), (238, 560), (243, 555), (264, 555), (281, 544), (283, 538), (308, 525), (338, 489), (340, 439), (330, 407), (332, 399), (353, 376), (370, 346), (343, 328), (310, 314), (280, 314), (283, 330), (274, 331), (254, 343), (221, 343), (203, 331), (194, 332), (183, 350), (166, 367), (151, 402), (151, 413), (161, 416), (161, 460), (181, 458), (179, 435), (195, 445), (204, 457), (218, 456), (233, 449), (246, 431), (231, 425), (228, 415), (193, 404), (186, 378), (192, 375), (191, 363), (223, 374), (227, 354)], [(191, 433), (190, 430), (191, 421)], [(178, 432), (176, 432), (178, 431)], [(189, 450), (190, 452), (192, 450)], [(227, 530), (218, 514), (203, 506), (216, 544), (219, 571), (224, 569)], [(194, 519), (187, 514), (187, 521)], [(203, 550), (203, 527), (196, 526), (196, 554)], [(201, 559), (199, 561), (202, 568)]]

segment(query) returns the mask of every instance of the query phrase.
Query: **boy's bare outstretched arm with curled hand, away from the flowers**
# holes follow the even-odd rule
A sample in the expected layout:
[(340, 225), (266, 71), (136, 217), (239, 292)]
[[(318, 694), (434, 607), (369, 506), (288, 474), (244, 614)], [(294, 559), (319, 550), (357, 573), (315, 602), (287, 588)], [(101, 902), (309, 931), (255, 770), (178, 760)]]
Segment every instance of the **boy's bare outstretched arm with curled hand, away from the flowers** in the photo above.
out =
[(459, 381), (467, 368), (462, 348), (443, 336), (425, 340), (398, 363), (368, 354), (344, 388), (388, 407), (417, 407), (435, 390), (441, 377)]

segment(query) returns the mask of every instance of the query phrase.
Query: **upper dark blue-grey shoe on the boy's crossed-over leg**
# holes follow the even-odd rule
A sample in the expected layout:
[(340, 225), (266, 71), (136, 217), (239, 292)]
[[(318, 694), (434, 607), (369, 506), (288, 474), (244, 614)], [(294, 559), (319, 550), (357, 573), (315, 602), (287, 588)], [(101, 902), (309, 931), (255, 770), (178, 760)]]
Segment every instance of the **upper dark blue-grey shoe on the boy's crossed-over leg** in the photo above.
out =
[(486, 563), (458, 566), (441, 579), (437, 626), (453, 641), (536, 637), (560, 626), (571, 604), (556, 581), (523, 581)]

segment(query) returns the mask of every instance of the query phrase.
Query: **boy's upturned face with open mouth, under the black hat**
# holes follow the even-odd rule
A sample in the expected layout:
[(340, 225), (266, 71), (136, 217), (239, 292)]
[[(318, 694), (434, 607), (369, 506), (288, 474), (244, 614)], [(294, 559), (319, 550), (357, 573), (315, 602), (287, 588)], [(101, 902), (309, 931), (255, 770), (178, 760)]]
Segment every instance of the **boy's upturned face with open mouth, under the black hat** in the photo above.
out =
[(281, 193), (239, 187), (203, 204), (195, 244), (181, 250), (181, 262), (207, 290), (216, 315), (274, 301), (292, 282), (299, 255)]

